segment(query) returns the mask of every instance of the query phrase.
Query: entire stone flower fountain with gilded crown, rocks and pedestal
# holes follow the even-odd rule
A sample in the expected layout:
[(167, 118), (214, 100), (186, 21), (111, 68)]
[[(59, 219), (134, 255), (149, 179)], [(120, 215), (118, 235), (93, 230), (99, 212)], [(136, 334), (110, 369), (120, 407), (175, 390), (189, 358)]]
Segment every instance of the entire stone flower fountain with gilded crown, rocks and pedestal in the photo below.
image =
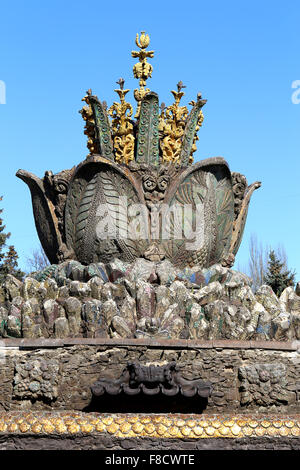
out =
[(0, 286), (0, 448), (299, 448), (299, 289), (232, 269), (260, 183), (193, 163), (206, 100), (136, 45), (134, 116), (88, 90), (85, 160), (17, 172), (51, 264)]

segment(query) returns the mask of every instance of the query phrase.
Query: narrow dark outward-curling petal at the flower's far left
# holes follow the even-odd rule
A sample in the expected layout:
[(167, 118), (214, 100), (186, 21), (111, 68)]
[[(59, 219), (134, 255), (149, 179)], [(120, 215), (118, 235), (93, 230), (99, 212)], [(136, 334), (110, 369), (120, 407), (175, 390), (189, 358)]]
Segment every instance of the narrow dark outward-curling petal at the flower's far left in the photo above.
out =
[(58, 249), (62, 243), (58, 230), (58, 221), (52, 202), (46, 197), (43, 181), (25, 170), (19, 170), (16, 176), (29, 187), (32, 208), (38, 236), (51, 264), (58, 263)]

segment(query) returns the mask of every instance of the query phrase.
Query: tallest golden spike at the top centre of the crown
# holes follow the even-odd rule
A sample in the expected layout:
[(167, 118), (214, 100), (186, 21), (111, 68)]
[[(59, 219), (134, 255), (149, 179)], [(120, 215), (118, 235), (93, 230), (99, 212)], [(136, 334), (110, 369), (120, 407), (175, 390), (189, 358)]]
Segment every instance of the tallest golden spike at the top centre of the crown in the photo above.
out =
[(140, 88), (136, 88), (133, 92), (138, 104), (135, 117), (138, 118), (140, 115), (141, 101), (150, 91), (149, 88), (145, 87), (147, 79), (152, 76), (153, 67), (147, 62), (147, 58), (153, 58), (154, 51), (146, 51), (150, 44), (150, 38), (145, 31), (142, 31), (140, 36), (138, 34), (136, 35), (135, 43), (137, 47), (140, 48), (140, 51), (131, 52), (132, 57), (139, 59), (139, 62), (133, 66), (133, 75), (135, 78), (139, 79), (140, 85)]

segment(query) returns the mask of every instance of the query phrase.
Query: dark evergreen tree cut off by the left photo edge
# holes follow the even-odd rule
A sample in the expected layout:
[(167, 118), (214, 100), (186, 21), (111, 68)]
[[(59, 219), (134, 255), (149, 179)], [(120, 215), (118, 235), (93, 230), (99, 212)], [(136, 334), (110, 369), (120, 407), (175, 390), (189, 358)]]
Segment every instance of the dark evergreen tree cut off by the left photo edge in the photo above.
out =
[[(2, 197), (0, 197), (2, 201)], [(0, 209), (2, 214), (3, 209)], [(5, 281), (8, 274), (22, 280), (24, 273), (18, 268), (18, 254), (13, 245), (7, 247), (6, 241), (10, 237), (10, 233), (5, 233), (5, 225), (0, 217), (0, 284)]]

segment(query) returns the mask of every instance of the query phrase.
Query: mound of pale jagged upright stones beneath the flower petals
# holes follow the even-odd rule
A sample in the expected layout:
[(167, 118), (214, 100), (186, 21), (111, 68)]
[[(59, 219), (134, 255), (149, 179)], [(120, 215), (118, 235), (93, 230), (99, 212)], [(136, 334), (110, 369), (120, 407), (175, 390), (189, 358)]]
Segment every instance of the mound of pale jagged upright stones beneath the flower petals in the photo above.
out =
[(0, 287), (0, 337), (300, 339), (300, 296), (254, 294), (246, 275), (214, 265), (176, 269), (169, 261), (118, 259), (52, 265)]

